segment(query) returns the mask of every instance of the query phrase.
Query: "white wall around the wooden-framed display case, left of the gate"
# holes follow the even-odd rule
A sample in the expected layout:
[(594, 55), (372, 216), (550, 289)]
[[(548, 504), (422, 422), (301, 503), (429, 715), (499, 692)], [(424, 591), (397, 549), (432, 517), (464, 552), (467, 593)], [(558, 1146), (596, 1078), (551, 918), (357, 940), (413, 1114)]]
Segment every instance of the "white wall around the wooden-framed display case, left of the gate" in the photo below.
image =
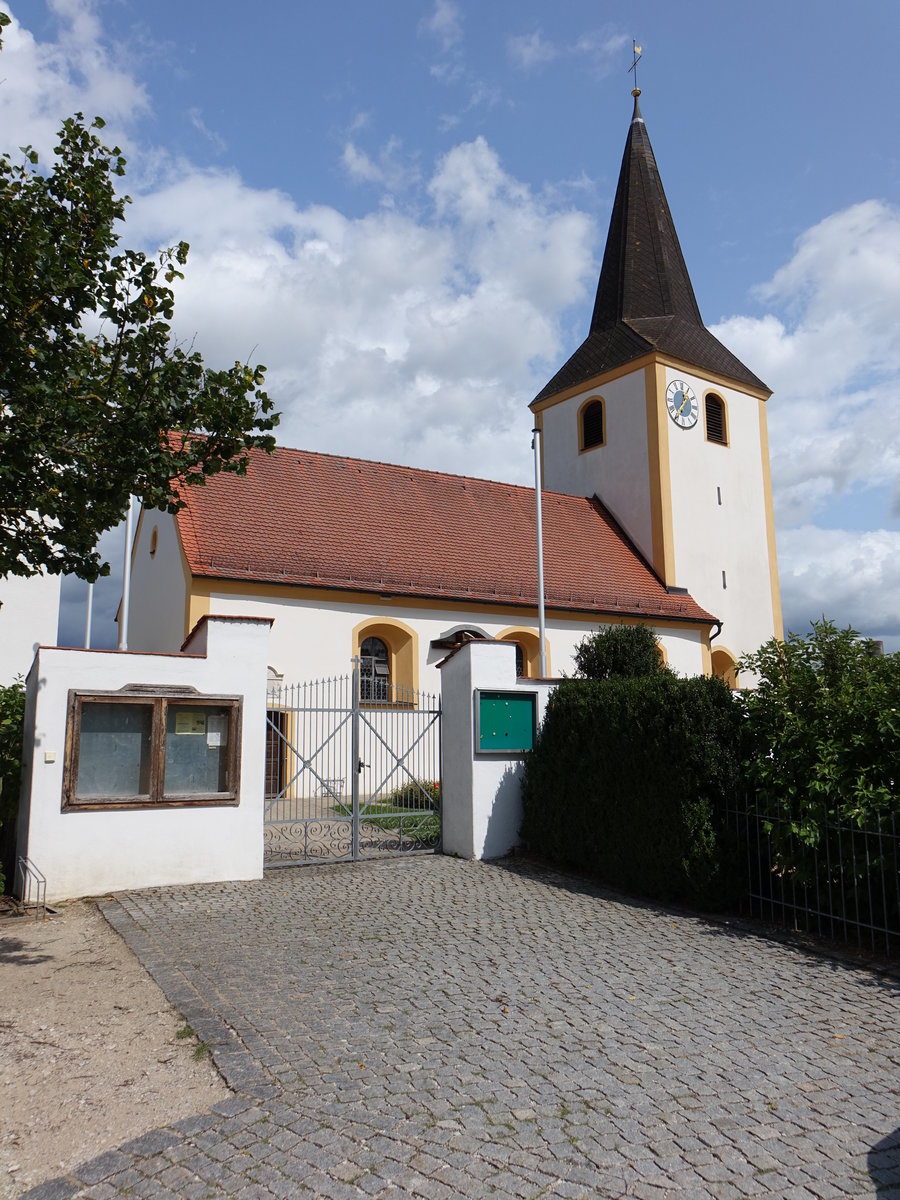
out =
[[(211, 619), (190, 654), (38, 652), (28, 679), (19, 853), (47, 876), (49, 901), (262, 877), (268, 637), (268, 622)], [(242, 695), (236, 808), (61, 811), (70, 688), (108, 691), (128, 684)]]

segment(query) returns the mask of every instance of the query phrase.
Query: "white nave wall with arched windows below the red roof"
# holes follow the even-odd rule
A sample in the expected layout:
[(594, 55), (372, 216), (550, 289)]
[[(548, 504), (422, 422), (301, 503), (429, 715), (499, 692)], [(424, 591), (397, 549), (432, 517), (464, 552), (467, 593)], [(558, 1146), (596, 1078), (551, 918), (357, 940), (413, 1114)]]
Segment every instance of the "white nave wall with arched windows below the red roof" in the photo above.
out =
[[(529, 619), (527, 614), (466, 613), (452, 608), (414, 608), (377, 601), (372, 605), (361, 601), (342, 605), (288, 596), (276, 600), (214, 593), (210, 607), (214, 613), (272, 618), (269, 664), (284, 677), (286, 684), (348, 674), (352, 668), (353, 630), (368, 618), (390, 618), (415, 630), (419, 638), (419, 688), (432, 694), (442, 689), (438, 662), (445, 658), (446, 650), (432, 650), (431, 642), (450, 630), (464, 626), (478, 629), (486, 637), (496, 637), (510, 626), (521, 625), (532, 629), (535, 636), (538, 634), (536, 617)], [(600, 624), (599, 619), (550, 618), (550, 673), (571, 674), (576, 647)], [(700, 630), (659, 626), (655, 632), (674, 671), (679, 674), (702, 674)]]

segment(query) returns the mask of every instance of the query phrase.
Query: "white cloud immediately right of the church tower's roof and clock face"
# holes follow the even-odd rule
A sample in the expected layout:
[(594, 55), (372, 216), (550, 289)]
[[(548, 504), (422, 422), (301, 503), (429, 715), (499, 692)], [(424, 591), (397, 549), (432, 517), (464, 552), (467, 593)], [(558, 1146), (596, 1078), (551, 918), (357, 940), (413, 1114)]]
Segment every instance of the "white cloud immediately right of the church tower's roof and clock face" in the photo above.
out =
[(896, 488), (900, 210), (868, 200), (827, 217), (758, 295), (774, 313), (714, 332), (774, 389), (780, 522), (808, 521), (850, 492)]

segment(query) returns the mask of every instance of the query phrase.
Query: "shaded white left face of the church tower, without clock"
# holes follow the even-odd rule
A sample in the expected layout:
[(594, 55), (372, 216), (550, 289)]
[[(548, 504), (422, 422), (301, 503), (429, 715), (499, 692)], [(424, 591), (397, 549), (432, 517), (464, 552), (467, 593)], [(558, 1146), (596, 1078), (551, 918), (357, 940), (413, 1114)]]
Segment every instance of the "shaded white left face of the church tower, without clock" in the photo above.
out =
[[(606, 440), (578, 452), (578, 410), (605, 401)], [(599, 496), (648, 559), (653, 558), (647, 385), (643, 367), (544, 410), (544, 486), (568, 496)]]

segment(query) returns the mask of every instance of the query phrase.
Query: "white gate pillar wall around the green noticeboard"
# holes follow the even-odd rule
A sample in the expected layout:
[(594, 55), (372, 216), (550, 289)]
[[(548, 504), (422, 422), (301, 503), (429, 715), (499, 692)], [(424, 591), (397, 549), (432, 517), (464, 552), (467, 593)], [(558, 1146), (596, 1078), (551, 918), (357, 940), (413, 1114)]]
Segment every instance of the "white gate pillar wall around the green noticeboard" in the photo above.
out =
[(475, 751), (475, 691), (536, 692), (540, 725), (557, 682), (516, 679), (516, 650), (505, 642), (468, 642), (440, 677), (444, 853), (502, 858), (518, 842), (523, 758)]

